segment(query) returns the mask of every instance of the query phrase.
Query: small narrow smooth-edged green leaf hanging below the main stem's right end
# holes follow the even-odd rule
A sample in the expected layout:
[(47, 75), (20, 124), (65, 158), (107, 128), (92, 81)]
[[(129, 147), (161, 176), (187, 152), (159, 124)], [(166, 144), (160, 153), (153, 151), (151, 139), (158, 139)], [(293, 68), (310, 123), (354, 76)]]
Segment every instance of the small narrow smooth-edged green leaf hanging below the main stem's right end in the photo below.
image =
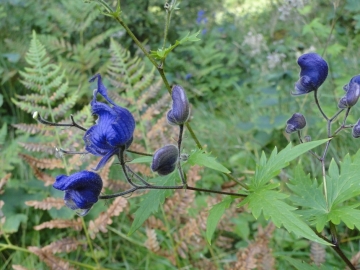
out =
[(225, 210), (229, 208), (233, 199), (231, 197), (225, 198), (222, 202), (214, 205), (209, 213), (207, 222), (206, 222), (206, 239), (211, 245), (211, 238), (215, 232), (216, 226), (219, 223), (222, 215), (225, 213)]

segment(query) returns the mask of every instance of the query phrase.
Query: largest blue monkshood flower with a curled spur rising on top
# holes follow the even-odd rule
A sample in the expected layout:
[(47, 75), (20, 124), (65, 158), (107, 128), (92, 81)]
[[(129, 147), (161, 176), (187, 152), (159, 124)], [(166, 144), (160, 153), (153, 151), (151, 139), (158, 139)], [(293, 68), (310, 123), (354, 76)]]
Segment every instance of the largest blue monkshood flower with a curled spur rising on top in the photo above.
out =
[[(92, 113), (96, 114), (98, 119), (97, 123), (86, 131), (83, 139), (86, 151), (96, 156), (103, 156), (94, 169), (99, 170), (114, 154), (119, 152), (121, 147), (130, 146), (133, 140), (135, 119), (127, 109), (116, 105), (108, 97), (107, 89), (99, 74), (92, 77), (89, 82), (96, 79), (98, 85), (90, 105)], [(97, 94), (103, 96), (112, 106), (98, 102)]]

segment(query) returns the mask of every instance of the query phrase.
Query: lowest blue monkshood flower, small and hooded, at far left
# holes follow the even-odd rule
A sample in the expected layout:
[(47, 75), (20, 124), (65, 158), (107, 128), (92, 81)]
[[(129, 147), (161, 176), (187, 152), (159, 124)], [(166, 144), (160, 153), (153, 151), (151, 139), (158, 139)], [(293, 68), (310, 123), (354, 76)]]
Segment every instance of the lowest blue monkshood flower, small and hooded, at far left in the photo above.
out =
[(79, 216), (85, 216), (99, 199), (102, 180), (97, 173), (81, 171), (72, 175), (59, 175), (53, 185), (65, 191), (65, 205), (75, 210)]

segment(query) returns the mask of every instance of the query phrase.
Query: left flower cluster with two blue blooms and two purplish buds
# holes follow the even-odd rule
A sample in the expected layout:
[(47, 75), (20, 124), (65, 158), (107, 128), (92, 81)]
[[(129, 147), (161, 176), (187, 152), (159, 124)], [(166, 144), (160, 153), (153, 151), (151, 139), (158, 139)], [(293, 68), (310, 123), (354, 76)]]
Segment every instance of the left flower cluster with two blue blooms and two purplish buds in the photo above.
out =
[[(125, 164), (124, 151), (129, 148), (133, 141), (135, 119), (128, 109), (118, 106), (108, 96), (107, 89), (99, 74), (90, 79), (90, 82), (94, 81), (97, 81), (97, 88), (94, 90), (90, 105), (93, 115), (97, 116), (96, 123), (86, 130), (73, 122), (74, 126), (85, 131), (83, 140), (86, 153), (102, 157), (93, 170), (101, 169), (112, 156), (116, 155), (119, 158), (126, 180), (132, 186), (127, 191), (115, 194), (116, 196), (129, 194), (138, 189), (163, 188), (148, 183), (136, 174), (135, 177), (142, 183), (140, 185), (134, 183), (129, 177), (128, 172), (131, 172), (131, 169)], [(98, 101), (98, 96), (103, 97), (106, 102)], [(179, 85), (174, 85), (171, 97), (172, 105), (166, 114), (166, 119), (169, 124), (178, 125), (180, 132), (177, 146), (165, 145), (153, 155), (151, 169), (160, 176), (172, 173), (179, 165), (181, 159), (179, 149), (181, 148), (183, 127), (190, 117), (190, 104), (185, 90)], [(38, 116), (37, 119), (39, 119)], [(43, 121), (43, 123), (49, 122)], [(99, 198), (104, 199), (112, 196), (100, 196), (103, 183), (101, 177), (94, 171), (80, 171), (69, 176), (59, 175), (53, 185), (54, 188), (65, 192), (65, 205), (81, 216), (86, 215)], [(183, 185), (186, 184), (183, 178), (182, 182)]]

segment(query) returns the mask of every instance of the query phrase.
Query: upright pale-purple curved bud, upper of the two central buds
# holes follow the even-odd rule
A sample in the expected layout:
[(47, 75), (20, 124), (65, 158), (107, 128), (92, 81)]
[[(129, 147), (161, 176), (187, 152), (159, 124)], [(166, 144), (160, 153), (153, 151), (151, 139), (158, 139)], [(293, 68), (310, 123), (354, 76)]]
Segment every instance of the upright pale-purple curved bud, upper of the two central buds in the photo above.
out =
[(170, 125), (183, 125), (190, 116), (190, 105), (185, 90), (179, 85), (174, 85), (171, 98), (173, 103), (166, 119)]

